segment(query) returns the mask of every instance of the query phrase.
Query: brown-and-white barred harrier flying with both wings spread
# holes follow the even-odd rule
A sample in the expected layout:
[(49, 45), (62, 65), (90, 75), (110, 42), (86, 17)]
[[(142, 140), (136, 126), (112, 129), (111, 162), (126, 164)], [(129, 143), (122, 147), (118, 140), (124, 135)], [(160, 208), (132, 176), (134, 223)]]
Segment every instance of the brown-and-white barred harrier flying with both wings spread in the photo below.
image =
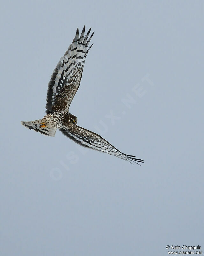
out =
[(77, 117), (69, 113), (70, 103), (80, 85), (84, 61), (93, 45), (88, 48), (94, 34), (92, 33), (89, 37), (90, 31), (91, 28), (84, 36), (84, 26), (79, 36), (77, 28), (72, 44), (54, 69), (48, 83), (46, 115), (36, 121), (21, 123), (29, 129), (48, 136), (55, 136), (56, 129), (59, 129), (65, 136), (83, 147), (99, 150), (129, 162), (143, 163), (143, 160), (135, 156), (122, 153), (95, 132), (78, 126)]

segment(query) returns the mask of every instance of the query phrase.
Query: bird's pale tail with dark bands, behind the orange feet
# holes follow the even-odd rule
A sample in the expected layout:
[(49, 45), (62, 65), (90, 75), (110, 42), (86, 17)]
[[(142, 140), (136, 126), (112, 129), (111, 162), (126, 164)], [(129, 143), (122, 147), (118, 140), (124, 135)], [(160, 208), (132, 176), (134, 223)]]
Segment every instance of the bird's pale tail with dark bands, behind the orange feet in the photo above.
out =
[(25, 127), (27, 127), (30, 130), (35, 130), (36, 132), (40, 132), (42, 134), (48, 135), (48, 136), (55, 136), (56, 128), (50, 128), (48, 126), (42, 128), (40, 127), (40, 124), (43, 123), (42, 119), (30, 121), (30, 122), (21, 122)]

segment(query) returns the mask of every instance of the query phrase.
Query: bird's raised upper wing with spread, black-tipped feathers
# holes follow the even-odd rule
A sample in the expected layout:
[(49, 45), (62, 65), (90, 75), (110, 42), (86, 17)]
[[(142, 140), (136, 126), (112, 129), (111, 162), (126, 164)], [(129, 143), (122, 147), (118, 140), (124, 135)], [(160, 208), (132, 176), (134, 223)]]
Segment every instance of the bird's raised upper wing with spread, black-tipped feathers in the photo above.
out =
[[(69, 45), (68, 50), (58, 62), (48, 83), (46, 113), (67, 111), (77, 92), (84, 67), (84, 61), (91, 46), (88, 48), (92, 35), (91, 28), (84, 37), (85, 26), (79, 37), (77, 28), (76, 36)], [(89, 37), (89, 39), (88, 39)]]

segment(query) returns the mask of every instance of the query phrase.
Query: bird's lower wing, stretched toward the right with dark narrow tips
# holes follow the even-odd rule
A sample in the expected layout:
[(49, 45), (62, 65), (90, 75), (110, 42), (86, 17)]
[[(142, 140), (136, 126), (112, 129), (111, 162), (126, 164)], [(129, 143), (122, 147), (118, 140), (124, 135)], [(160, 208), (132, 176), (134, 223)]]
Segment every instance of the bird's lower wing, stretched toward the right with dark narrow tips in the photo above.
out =
[(113, 156), (117, 156), (129, 162), (135, 162), (136, 164), (143, 163), (143, 160), (135, 158), (135, 156), (126, 155), (120, 152), (117, 148), (113, 147), (107, 140), (103, 139), (100, 135), (88, 131), (82, 127), (74, 126), (72, 129), (60, 131), (69, 139), (75, 141), (83, 147), (99, 150), (104, 153), (108, 153)]

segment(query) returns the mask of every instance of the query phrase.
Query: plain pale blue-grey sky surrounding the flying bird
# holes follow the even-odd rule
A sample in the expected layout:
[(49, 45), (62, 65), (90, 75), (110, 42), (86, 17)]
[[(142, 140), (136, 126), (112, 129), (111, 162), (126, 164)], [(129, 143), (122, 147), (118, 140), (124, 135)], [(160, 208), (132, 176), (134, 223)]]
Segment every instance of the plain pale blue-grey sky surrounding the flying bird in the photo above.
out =
[[(204, 251), (203, 1), (1, 7), (1, 255)], [(70, 112), (142, 166), (20, 123), (45, 115), (52, 71), (84, 24), (94, 45)]]

